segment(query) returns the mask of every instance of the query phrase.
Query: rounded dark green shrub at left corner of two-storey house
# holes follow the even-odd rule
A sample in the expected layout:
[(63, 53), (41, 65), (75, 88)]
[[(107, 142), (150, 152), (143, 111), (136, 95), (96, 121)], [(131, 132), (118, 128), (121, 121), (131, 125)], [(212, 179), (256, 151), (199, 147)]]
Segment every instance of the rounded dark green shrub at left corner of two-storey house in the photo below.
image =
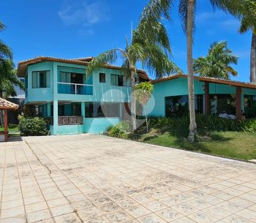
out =
[(47, 123), (44, 118), (19, 116), (20, 135), (47, 135)]

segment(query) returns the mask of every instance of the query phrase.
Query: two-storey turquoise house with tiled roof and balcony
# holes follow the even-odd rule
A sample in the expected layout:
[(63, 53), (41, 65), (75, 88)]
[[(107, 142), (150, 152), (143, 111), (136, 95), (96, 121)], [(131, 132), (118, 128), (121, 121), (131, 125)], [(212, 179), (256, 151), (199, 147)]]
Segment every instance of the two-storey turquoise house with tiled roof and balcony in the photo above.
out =
[[(40, 56), (18, 64), (18, 77), (25, 78), (25, 105), (49, 118), (52, 135), (103, 132), (129, 115), (129, 78), (112, 65), (87, 77), (91, 60)], [(136, 79), (149, 80), (141, 70)]]

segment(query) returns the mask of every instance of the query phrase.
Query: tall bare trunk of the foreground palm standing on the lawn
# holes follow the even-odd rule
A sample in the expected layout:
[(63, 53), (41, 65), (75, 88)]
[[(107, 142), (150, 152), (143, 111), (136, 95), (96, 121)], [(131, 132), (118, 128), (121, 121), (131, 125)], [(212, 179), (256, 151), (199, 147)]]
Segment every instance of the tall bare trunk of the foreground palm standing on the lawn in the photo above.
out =
[(194, 142), (197, 133), (197, 124), (195, 123), (195, 91), (194, 91), (194, 72), (192, 55), (192, 36), (193, 36), (193, 15), (195, 10), (195, 1), (189, 0), (187, 5), (187, 81), (189, 91), (189, 136), (188, 140)]

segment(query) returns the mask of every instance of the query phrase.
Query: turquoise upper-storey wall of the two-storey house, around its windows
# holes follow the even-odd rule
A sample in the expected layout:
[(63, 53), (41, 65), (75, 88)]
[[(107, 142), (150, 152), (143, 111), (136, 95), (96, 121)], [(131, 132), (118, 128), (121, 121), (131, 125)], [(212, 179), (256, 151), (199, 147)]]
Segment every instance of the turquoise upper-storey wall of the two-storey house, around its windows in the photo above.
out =
[[(32, 72), (42, 70), (50, 71), (50, 88), (32, 88)], [(25, 102), (31, 104), (34, 102), (45, 103), (53, 101), (53, 99), (76, 102), (129, 102), (130, 87), (111, 85), (111, 74), (120, 74), (120, 71), (117, 69), (102, 68), (92, 74), (93, 95), (58, 94), (56, 86), (57, 82), (59, 82), (59, 73), (61, 71), (86, 74), (86, 67), (57, 62), (42, 62), (29, 65), (27, 76), (28, 88)], [(106, 83), (99, 83), (99, 72), (106, 74)]]

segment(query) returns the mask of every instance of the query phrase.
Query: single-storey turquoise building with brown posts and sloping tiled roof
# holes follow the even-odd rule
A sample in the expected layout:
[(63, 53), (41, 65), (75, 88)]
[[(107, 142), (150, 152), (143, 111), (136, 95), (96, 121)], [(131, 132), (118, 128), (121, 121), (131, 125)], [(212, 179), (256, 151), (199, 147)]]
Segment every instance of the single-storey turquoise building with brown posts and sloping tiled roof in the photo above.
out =
[[(187, 75), (152, 80), (154, 93), (147, 104), (149, 116), (183, 116), (189, 111)], [(195, 76), (196, 113), (227, 113), (237, 119), (256, 117), (256, 85)], [(254, 108), (253, 108), (254, 105)]]

